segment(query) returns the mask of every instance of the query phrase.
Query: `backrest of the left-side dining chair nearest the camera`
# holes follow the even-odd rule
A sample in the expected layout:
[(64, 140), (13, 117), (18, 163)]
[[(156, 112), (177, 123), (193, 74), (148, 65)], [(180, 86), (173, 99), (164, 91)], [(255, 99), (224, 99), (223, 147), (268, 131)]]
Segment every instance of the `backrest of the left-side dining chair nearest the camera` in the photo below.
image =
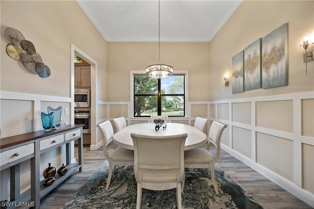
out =
[(112, 142), (112, 137), (114, 134), (112, 125), (110, 121), (107, 120), (105, 122), (97, 124), (97, 127), (100, 129), (100, 132), (102, 133), (102, 136), (103, 136), (103, 150), (104, 150), (105, 158), (108, 161), (110, 161), (111, 158), (107, 152), (107, 145)]

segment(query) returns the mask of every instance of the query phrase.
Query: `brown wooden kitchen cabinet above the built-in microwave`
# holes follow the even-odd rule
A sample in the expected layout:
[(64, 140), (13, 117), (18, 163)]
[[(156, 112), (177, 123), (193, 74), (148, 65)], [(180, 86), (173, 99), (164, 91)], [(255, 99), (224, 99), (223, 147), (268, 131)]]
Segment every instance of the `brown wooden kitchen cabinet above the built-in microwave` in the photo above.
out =
[(74, 64), (74, 87), (90, 88), (90, 64), (75, 63)]

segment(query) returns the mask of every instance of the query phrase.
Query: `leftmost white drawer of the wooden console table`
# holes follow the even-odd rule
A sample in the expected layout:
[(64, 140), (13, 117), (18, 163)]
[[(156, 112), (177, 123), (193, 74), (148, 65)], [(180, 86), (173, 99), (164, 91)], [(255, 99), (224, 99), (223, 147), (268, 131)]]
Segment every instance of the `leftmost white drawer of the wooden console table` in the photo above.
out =
[(35, 146), (34, 143), (29, 143), (17, 148), (9, 149), (0, 153), (1, 166), (7, 163), (12, 163), (13, 161), (24, 158), (28, 155), (34, 153)]

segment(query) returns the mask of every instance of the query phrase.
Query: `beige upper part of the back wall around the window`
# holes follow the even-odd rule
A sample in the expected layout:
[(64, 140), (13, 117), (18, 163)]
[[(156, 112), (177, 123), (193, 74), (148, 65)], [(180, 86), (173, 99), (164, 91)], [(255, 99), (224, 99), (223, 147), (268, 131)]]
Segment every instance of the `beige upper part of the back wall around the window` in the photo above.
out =
[[(157, 64), (158, 43), (108, 42), (107, 54), (108, 101), (130, 101), (130, 70)], [(209, 43), (160, 43), (160, 62), (188, 70), (189, 101), (209, 100)]]

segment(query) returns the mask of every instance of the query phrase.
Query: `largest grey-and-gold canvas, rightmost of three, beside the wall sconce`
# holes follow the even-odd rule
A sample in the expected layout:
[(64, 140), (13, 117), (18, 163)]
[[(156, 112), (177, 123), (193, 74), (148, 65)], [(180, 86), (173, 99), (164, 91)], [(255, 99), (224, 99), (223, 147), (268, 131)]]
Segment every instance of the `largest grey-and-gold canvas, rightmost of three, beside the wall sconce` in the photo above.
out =
[(262, 88), (288, 85), (288, 23), (262, 38)]

